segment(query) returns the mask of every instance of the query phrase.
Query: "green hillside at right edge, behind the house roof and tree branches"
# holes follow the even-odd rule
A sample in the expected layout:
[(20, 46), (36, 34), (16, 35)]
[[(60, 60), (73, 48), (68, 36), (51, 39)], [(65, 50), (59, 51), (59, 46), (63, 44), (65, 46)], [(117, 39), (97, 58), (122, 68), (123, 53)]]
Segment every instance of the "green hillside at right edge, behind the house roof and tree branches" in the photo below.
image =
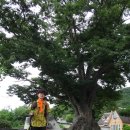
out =
[(124, 88), (122, 91), (121, 100), (117, 101), (117, 106), (121, 108), (130, 107), (130, 87)]

